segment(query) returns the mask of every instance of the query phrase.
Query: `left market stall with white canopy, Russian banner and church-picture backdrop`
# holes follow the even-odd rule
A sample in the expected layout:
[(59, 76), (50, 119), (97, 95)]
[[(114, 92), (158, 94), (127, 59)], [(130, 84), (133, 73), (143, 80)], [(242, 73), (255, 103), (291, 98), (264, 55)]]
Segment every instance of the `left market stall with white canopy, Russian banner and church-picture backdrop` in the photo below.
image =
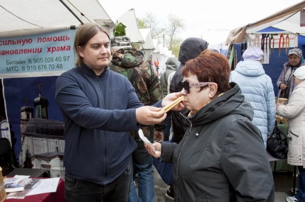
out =
[(81, 24), (99, 24), (110, 33), (115, 25), (96, 0), (2, 1), (0, 17), (0, 137), (10, 141), (20, 167), (64, 177), (56, 79), (75, 66)]

